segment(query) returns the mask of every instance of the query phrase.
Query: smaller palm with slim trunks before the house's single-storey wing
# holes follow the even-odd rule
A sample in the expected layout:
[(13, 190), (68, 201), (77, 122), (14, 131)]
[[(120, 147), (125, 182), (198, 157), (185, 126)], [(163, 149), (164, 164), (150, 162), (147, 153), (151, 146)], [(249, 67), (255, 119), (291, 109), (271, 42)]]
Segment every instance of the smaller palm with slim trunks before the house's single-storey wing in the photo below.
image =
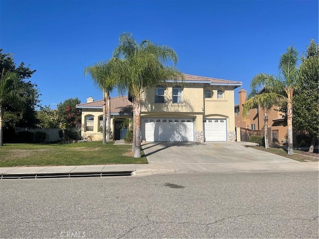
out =
[[(103, 92), (103, 124), (102, 124), (102, 136), (103, 144), (106, 141), (110, 141), (111, 134), (111, 103), (110, 103), (110, 93), (115, 87), (115, 80), (110, 76), (110, 62), (111, 61), (101, 61), (95, 63), (93, 66), (86, 67), (84, 69), (84, 75), (90, 74), (94, 84), (102, 89)], [(106, 107), (107, 105), (107, 107)], [(106, 113), (108, 126), (106, 127)], [(105, 134), (107, 136), (105, 136)]]

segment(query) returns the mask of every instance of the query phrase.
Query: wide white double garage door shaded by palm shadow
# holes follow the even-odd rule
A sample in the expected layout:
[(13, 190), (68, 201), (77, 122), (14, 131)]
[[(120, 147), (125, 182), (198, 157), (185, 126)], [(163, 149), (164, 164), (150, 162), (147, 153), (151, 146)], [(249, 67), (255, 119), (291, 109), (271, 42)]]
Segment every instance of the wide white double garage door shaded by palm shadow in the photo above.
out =
[(194, 141), (194, 119), (142, 118), (142, 140)]

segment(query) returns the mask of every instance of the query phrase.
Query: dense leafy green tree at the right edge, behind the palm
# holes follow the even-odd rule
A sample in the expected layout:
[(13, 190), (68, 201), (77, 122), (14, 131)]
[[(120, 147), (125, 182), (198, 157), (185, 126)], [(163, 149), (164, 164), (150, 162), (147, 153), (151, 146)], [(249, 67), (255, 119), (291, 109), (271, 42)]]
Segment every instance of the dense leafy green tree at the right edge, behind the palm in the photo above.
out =
[(310, 41), (300, 65), (302, 85), (293, 98), (294, 128), (307, 130), (315, 137), (319, 132), (319, 45)]

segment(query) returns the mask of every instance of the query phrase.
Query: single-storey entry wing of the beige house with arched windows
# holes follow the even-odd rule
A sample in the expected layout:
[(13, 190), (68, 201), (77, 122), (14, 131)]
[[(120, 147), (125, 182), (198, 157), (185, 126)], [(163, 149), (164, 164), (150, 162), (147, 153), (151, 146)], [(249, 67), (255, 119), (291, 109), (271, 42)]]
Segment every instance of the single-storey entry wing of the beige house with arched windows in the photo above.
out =
[[(89, 97), (87, 103), (79, 104), (76, 108), (82, 110), (82, 139), (102, 140), (103, 101), (94, 101)], [(127, 119), (133, 118), (132, 102), (127, 96), (111, 98), (111, 131), (113, 138), (123, 139), (127, 132)], [(109, 119), (107, 119), (109, 120)]]

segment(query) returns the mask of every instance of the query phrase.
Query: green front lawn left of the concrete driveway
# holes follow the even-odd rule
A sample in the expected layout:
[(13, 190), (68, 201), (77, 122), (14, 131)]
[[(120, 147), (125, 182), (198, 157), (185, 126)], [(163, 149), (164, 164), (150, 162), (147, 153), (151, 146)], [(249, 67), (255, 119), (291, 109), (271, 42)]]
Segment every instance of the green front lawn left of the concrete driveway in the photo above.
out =
[(100, 141), (4, 144), (0, 147), (0, 167), (148, 163), (143, 151), (142, 158), (134, 158), (131, 149), (131, 145), (103, 145)]

